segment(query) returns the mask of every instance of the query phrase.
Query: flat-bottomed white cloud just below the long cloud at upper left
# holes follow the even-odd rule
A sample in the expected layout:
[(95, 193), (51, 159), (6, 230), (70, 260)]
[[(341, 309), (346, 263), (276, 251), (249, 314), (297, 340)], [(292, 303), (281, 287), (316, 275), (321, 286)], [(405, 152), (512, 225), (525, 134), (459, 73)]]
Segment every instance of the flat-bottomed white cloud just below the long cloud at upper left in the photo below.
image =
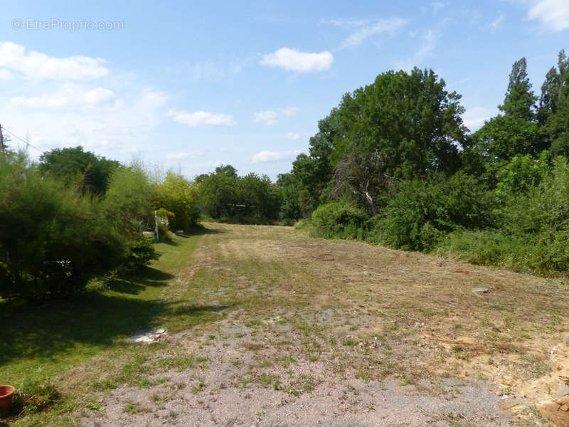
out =
[(14, 105), (22, 105), (29, 108), (82, 108), (121, 105), (117, 95), (110, 89), (95, 88), (85, 89), (79, 85), (63, 85), (53, 93), (40, 96), (18, 96), (11, 98)]

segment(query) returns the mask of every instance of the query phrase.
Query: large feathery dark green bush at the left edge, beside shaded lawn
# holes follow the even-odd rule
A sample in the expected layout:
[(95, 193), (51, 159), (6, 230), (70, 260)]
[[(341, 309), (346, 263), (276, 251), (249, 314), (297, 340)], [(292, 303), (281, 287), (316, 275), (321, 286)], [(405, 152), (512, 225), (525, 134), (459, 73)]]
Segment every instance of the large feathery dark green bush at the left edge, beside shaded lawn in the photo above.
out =
[(127, 253), (95, 199), (23, 155), (0, 157), (0, 296), (39, 299), (82, 292)]

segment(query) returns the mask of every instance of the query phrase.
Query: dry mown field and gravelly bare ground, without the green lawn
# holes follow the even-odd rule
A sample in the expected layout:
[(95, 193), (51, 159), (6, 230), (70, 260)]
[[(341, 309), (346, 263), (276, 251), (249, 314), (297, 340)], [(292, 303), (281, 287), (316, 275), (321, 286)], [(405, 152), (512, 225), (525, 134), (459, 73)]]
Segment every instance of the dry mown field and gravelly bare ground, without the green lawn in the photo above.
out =
[(164, 299), (219, 320), (167, 333), (153, 385), (97, 395), (81, 425), (569, 426), (562, 280), (206, 226)]

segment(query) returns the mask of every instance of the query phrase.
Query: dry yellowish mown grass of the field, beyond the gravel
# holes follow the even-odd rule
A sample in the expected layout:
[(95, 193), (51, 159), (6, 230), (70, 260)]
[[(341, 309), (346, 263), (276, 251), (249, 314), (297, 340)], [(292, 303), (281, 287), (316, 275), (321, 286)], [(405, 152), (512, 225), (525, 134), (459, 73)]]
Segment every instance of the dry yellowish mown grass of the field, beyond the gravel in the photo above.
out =
[(458, 375), (531, 401), (561, 385), (566, 352), (551, 352), (569, 329), (569, 292), (555, 281), (291, 228), (208, 226), (221, 233), (204, 237), (188, 292), (238, 301), (238, 319), (277, 344), (275, 318), (304, 336), (288, 341), (307, 357), (365, 378)]

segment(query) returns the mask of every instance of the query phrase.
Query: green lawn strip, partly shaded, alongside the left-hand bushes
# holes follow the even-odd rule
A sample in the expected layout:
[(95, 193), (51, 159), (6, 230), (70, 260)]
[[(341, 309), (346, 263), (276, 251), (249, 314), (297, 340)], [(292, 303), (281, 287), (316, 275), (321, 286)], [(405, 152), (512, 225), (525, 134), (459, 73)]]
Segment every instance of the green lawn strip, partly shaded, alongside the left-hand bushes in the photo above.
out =
[[(41, 304), (0, 300), (4, 325), (0, 330), (0, 382), (28, 393), (41, 384), (55, 382), (63, 391), (74, 389), (73, 399), (81, 399), (74, 388), (77, 384), (58, 383), (58, 379), (91, 361), (102, 369), (94, 377), (103, 379), (98, 383), (94, 379), (87, 381), (86, 389), (151, 385), (141, 367), (160, 345), (138, 347), (124, 344), (124, 339), (138, 330), (175, 330), (180, 324), (191, 327), (215, 317), (218, 307), (164, 298), (167, 285), (190, 262), (200, 238), (176, 236), (172, 242), (156, 243), (161, 256), (144, 274), (115, 280), (102, 291), (93, 290), (100, 288), (100, 284), (93, 283), (85, 295), (75, 300)], [(184, 369), (196, 360), (171, 358), (162, 363)], [(106, 374), (110, 378), (105, 378)], [(63, 394), (60, 406), (68, 400)], [(18, 423), (25, 425), (25, 420)]]

